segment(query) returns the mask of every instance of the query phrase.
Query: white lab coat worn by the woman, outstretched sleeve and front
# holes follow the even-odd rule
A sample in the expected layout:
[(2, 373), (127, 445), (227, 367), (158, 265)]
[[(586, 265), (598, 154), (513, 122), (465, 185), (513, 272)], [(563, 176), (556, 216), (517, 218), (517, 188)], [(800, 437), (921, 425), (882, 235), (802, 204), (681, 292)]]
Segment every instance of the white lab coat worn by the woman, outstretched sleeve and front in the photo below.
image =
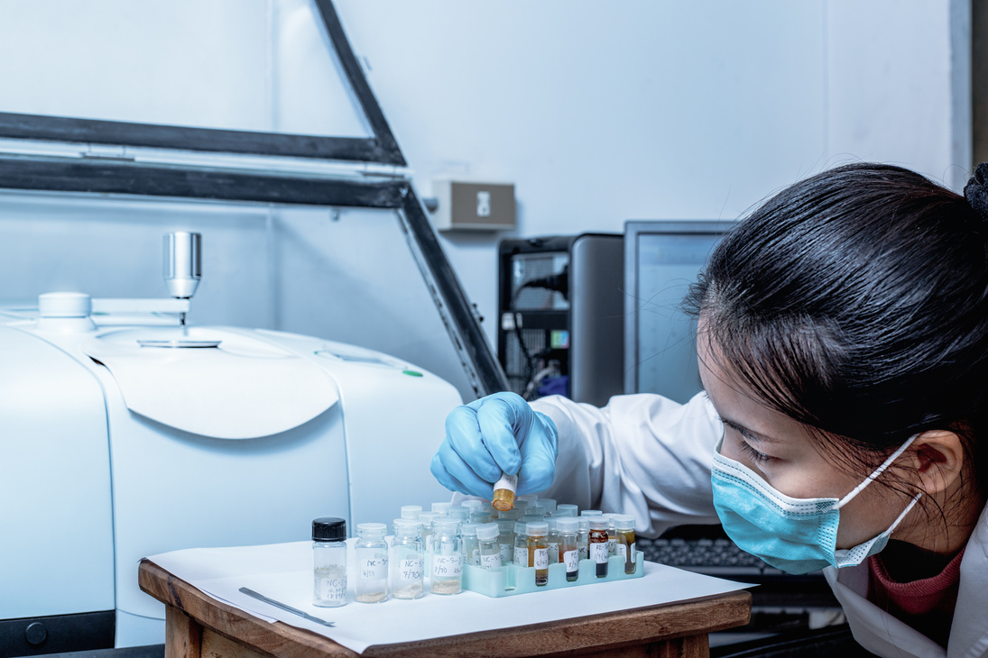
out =
[[(533, 402), (559, 429), (552, 486), (539, 495), (583, 508), (634, 514), (635, 531), (717, 523), (710, 488), (723, 428), (704, 394), (686, 404), (660, 396), (617, 396), (605, 407), (553, 396)], [(855, 639), (879, 656), (988, 655), (988, 507), (960, 562), (960, 588), (947, 650), (865, 598), (867, 564), (824, 569)]]

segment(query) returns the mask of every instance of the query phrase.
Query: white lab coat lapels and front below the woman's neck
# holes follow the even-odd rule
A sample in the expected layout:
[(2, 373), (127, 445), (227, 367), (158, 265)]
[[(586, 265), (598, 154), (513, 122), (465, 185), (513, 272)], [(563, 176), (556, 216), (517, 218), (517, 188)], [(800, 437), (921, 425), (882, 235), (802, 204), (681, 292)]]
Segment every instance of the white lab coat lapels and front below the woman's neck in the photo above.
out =
[(950, 624), (947, 650), (918, 630), (884, 612), (867, 595), (867, 562), (824, 575), (841, 602), (855, 639), (880, 656), (978, 658), (988, 653), (988, 506), (960, 559), (960, 587)]

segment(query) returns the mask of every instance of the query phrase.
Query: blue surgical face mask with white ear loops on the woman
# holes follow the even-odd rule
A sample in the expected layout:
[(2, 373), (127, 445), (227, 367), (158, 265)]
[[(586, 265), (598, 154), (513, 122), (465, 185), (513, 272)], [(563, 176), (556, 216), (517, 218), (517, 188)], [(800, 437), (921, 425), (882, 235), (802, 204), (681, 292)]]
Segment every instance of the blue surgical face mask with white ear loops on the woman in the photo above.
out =
[(837, 498), (792, 498), (774, 489), (748, 467), (720, 454), (713, 456), (713, 506), (724, 532), (742, 550), (786, 573), (809, 573), (825, 566), (854, 566), (888, 543), (892, 531), (920, 499), (916, 494), (891, 527), (854, 548), (837, 548), (841, 508), (881, 475), (916, 439), (909, 437), (851, 493)]

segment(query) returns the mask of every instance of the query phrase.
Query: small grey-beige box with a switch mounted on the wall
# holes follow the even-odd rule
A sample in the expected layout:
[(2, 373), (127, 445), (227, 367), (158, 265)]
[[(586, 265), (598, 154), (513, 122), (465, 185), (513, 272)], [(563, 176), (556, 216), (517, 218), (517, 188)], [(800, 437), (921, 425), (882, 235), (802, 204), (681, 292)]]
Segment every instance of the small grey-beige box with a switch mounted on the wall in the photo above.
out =
[(433, 215), (440, 231), (508, 231), (515, 228), (515, 183), (437, 180)]

